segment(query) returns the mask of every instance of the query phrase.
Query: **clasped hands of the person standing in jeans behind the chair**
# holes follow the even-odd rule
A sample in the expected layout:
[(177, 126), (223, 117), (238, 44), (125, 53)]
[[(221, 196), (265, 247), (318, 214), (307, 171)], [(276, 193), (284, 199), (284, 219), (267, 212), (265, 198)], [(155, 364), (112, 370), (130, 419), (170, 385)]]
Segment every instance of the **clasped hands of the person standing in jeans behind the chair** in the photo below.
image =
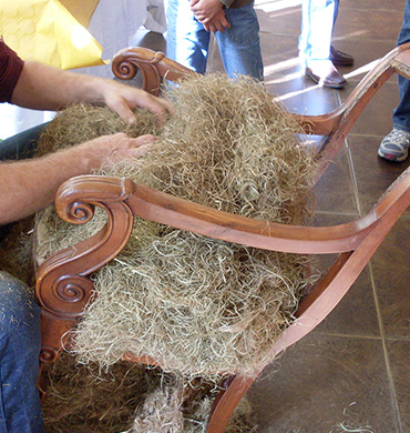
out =
[(206, 31), (224, 31), (230, 27), (221, 0), (191, 0), (191, 10)]

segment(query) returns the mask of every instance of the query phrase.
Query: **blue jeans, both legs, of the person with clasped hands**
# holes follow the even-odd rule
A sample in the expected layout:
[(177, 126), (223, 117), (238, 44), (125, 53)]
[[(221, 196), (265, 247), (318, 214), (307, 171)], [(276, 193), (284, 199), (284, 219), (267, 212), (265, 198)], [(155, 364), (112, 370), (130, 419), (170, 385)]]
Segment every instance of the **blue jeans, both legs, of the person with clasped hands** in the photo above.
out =
[[(226, 74), (264, 79), (259, 23), (254, 2), (225, 9), (230, 29), (215, 33)], [(166, 56), (178, 63), (205, 73), (211, 33), (198, 22), (188, 0), (168, 0)]]

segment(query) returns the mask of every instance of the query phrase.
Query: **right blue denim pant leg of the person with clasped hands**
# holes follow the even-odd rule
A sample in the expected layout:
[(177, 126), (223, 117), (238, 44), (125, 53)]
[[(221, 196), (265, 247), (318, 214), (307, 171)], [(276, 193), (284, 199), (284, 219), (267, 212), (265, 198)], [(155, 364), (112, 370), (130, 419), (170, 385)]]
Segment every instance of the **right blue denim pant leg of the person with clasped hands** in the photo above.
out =
[(242, 8), (225, 10), (230, 29), (215, 33), (226, 74), (235, 78), (238, 74), (264, 80), (259, 22), (254, 2)]

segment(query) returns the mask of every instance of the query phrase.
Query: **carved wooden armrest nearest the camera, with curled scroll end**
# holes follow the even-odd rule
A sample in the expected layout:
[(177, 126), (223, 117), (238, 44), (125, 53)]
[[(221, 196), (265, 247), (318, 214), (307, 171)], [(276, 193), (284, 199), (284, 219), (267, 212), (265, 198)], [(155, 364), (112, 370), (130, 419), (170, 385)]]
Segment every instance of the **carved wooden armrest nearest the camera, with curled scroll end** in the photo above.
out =
[[(410, 203), (410, 171), (391, 185), (379, 203), (365, 216), (331, 226), (288, 225), (234, 215), (135, 184), (130, 179), (81, 175), (59, 190), (57, 211), (68, 222), (84, 223), (93, 205), (109, 216), (104, 229), (75, 248), (69, 248), (41, 266), (54, 269), (62, 262), (81, 259), (85, 275), (107, 263), (126, 243), (133, 215), (202, 235), (254, 248), (300, 254), (327, 254), (355, 250), (369, 232), (390, 214), (402, 213)], [(75, 264), (75, 269), (76, 269)]]

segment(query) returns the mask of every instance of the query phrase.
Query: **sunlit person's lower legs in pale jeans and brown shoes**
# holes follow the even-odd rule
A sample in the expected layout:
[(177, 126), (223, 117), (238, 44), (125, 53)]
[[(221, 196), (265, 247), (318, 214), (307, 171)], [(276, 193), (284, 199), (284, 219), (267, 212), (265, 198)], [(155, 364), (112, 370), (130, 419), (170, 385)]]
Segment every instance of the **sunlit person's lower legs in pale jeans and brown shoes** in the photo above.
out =
[(316, 83), (341, 89), (347, 84), (335, 66), (351, 66), (355, 59), (331, 46), (339, 0), (303, 0), (299, 58), (305, 75)]

